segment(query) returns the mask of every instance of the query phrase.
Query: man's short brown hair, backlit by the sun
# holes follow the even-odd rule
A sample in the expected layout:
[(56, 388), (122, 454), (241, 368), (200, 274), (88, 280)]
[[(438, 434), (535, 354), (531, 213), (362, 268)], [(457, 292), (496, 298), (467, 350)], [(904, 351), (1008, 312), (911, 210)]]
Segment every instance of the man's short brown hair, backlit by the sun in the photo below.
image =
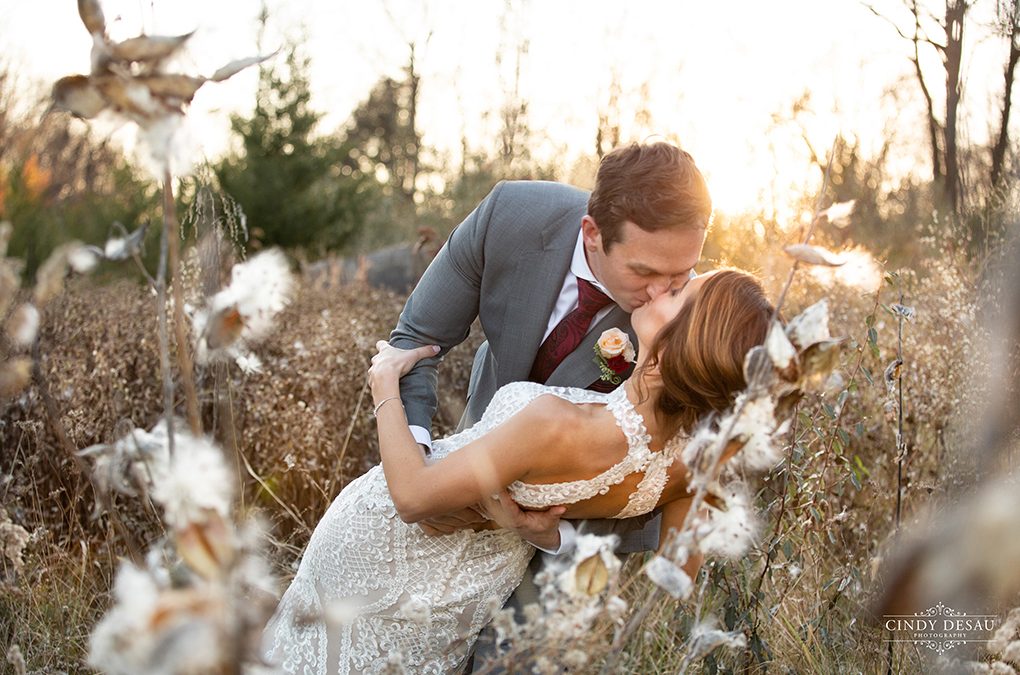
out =
[(707, 228), (712, 198), (688, 153), (669, 143), (632, 143), (602, 158), (588, 214), (608, 252), (627, 220), (647, 231)]

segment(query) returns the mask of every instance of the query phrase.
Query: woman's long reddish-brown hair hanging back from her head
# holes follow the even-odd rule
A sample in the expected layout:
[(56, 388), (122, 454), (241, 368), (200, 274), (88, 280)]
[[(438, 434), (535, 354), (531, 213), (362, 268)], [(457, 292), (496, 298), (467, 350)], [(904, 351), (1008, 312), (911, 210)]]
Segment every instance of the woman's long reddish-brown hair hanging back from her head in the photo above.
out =
[(667, 437), (733, 403), (747, 386), (744, 357), (765, 342), (772, 309), (758, 279), (725, 269), (662, 327), (645, 367), (658, 366), (662, 377), (656, 416)]

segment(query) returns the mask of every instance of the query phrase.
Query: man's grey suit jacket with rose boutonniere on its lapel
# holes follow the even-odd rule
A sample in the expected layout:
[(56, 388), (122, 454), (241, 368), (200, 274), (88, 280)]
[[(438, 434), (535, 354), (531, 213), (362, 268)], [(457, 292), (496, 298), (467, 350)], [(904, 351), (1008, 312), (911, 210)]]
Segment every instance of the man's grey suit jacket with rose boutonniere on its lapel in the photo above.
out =
[[(475, 354), (459, 428), (481, 417), (500, 386), (527, 379), (570, 268), (588, 198), (584, 191), (556, 183), (500, 183), (454, 229), (411, 293), (390, 336), (390, 344), (402, 349), (442, 348), (437, 357), (420, 361), (401, 379), (401, 399), (411, 424), (431, 429), (437, 366), (467, 337), (475, 317), (486, 342)], [(547, 383), (586, 387), (599, 379), (595, 342), (613, 326), (625, 330), (636, 345), (629, 315), (614, 307)], [(589, 527), (628, 531), (645, 520)], [(655, 548), (657, 543), (643, 540), (626, 548)]]

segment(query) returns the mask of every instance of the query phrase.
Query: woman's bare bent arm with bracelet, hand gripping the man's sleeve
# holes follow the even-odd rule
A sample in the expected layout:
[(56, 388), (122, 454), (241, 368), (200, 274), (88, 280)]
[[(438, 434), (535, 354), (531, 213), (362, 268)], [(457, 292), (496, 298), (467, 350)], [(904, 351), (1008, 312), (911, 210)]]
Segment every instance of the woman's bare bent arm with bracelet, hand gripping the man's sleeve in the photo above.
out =
[[(382, 472), (394, 506), (404, 522), (414, 523), (477, 504), (524, 477), (548, 461), (549, 449), (568, 435), (559, 399), (532, 404), (486, 435), (434, 464), (411, 435), (400, 402), (400, 375), (418, 359), (432, 356), (430, 347), (402, 351), (378, 345), (369, 370)], [(557, 405), (557, 403), (561, 405)], [(514, 452), (500, 452), (513, 448)]]

